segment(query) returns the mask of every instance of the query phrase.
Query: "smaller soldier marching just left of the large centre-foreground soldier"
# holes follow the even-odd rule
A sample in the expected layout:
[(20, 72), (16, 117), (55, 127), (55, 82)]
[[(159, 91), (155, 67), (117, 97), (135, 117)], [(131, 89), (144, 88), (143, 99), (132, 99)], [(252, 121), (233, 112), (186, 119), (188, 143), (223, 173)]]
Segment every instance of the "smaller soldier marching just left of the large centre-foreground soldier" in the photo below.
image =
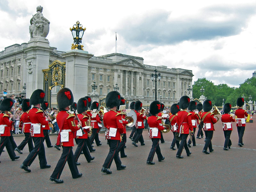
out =
[[(93, 110), (93, 109), (96, 109), (96, 110), (99, 109), (99, 102), (97, 102), (97, 101), (92, 102), (91, 110)], [(101, 124), (99, 114), (97, 114), (96, 117), (91, 118), (92, 135), (90, 137), (90, 142), (92, 144), (93, 140), (95, 140), (96, 145), (100, 146), (102, 144), (100, 143), (100, 140), (99, 140), (99, 134), (98, 134), (99, 125), (98, 125), (98, 123)]]

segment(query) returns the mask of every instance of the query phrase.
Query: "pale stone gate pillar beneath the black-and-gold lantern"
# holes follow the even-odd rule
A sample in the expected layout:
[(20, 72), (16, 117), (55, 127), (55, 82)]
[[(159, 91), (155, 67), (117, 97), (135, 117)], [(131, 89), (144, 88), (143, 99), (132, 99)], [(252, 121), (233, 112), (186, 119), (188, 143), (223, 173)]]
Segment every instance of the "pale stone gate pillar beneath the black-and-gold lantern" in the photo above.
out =
[(62, 54), (66, 60), (66, 87), (72, 91), (75, 102), (88, 95), (88, 60), (92, 56), (87, 51), (78, 49)]

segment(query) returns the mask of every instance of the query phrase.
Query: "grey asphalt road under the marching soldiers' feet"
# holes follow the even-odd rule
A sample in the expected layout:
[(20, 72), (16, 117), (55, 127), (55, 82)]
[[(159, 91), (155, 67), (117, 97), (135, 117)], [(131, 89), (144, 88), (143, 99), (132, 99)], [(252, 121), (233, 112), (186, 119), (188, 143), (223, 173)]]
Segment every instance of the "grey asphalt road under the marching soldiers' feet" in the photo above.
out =
[[(18, 154), (20, 159), (11, 161), (8, 153), (3, 152), (0, 160), (0, 191), (256, 191), (256, 116), (252, 116), (254, 123), (246, 123), (243, 142), (244, 147), (237, 146), (238, 134), (236, 124), (232, 123), (232, 146), (228, 151), (223, 150), (224, 134), (222, 123), (217, 122), (213, 134), (212, 145), (214, 151), (209, 155), (202, 153), (204, 138), (196, 139), (196, 146), (189, 148), (191, 156), (186, 156), (183, 150), (183, 159), (176, 158), (177, 150), (170, 149), (173, 138), (172, 132), (164, 134), (165, 143), (160, 143), (164, 161), (158, 162), (155, 155), (155, 165), (146, 164), (152, 141), (149, 140), (148, 130), (143, 131), (146, 145), (134, 147), (130, 139), (127, 139), (125, 148), (126, 158), (121, 158), (126, 169), (117, 171), (113, 161), (107, 175), (100, 172), (102, 164), (108, 154), (109, 147), (105, 140), (105, 134), (99, 137), (102, 146), (94, 144), (95, 152), (91, 153), (95, 159), (87, 163), (84, 155), (79, 157), (79, 172), (81, 178), (72, 179), (68, 164), (61, 174), (63, 184), (50, 181), (62, 150), (45, 148), (50, 169), (40, 169), (38, 158), (29, 167), (31, 172), (20, 169), (20, 164), (28, 156), (28, 146), (23, 154)], [(197, 129), (196, 129), (197, 132)], [(129, 137), (130, 132), (127, 132)], [(17, 145), (24, 137), (14, 137)], [(50, 135), (52, 144), (56, 142), (56, 134)], [(46, 147), (46, 144), (44, 143)], [(175, 146), (176, 148), (176, 146)], [(73, 152), (76, 150), (76, 145)]]

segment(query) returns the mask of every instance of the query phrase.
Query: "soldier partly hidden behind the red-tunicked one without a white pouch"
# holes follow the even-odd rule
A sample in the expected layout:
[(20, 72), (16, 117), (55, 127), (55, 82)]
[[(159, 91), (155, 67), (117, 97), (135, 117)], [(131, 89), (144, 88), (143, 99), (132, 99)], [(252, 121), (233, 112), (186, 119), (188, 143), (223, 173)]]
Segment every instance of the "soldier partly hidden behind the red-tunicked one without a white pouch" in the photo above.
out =
[(171, 144), (170, 149), (176, 150), (174, 148), (175, 143), (177, 145), (177, 148), (180, 147), (180, 141), (176, 140), (176, 138), (175, 138), (175, 133), (177, 132), (177, 127), (176, 127), (175, 124), (176, 124), (176, 119), (177, 119), (177, 113), (180, 111), (180, 107), (177, 103), (174, 103), (171, 106), (170, 110), (171, 110), (172, 115), (170, 116), (169, 120), (170, 120), (170, 124), (171, 124), (171, 130), (172, 130), (172, 133), (173, 133), (173, 139), (172, 139), (172, 144)]

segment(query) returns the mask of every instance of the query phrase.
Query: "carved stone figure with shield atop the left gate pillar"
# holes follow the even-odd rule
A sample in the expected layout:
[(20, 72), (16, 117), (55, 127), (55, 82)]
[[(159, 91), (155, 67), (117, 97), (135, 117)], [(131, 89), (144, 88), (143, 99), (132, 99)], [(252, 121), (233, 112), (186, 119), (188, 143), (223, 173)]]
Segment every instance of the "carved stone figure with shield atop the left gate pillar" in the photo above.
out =
[(50, 21), (43, 16), (43, 7), (41, 5), (36, 7), (37, 13), (33, 15), (30, 20), (29, 33), (30, 39), (36, 37), (46, 37), (49, 33)]

